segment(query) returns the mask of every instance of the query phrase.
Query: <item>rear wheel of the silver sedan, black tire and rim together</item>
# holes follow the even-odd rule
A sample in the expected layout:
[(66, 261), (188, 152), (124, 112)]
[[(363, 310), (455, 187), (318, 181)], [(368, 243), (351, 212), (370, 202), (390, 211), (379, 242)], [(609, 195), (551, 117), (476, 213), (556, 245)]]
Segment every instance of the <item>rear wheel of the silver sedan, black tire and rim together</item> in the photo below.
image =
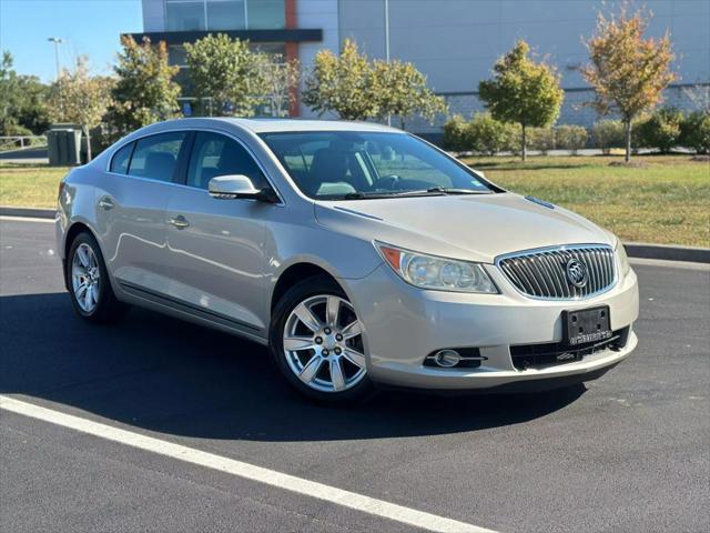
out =
[(105, 324), (125, 316), (129, 308), (115, 298), (99, 243), (89, 232), (79, 233), (71, 243), (67, 286), (74, 312), (87, 322)]

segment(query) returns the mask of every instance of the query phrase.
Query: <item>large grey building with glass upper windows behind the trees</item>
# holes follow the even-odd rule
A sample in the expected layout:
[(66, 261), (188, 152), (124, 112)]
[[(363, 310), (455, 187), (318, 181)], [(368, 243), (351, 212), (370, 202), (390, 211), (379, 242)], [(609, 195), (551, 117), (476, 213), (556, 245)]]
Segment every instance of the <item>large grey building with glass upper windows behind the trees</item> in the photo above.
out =
[[(666, 91), (666, 102), (686, 110), (707, 104), (710, 2), (645, 3), (653, 12), (649, 34), (670, 31), (673, 41), (672, 69), (679, 79)], [(142, 0), (142, 6), (144, 34), (166, 41), (175, 64), (184, 62), (182, 42), (210, 31), (298, 59), (303, 70), (318, 50), (337, 52), (344, 39), (353, 39), (371, 58), (385, 58), (389, 50), (392, 59), (414, 63), (446, 98), (449, 111), (465, 117), (483, 109), (478, 82), (490, 77), (496, 59), (525, 39), (561, 74), (566, 95), (559, 122), (590, 127), (598, 119), (585, 105), (594, 91), (580, 68), (589, 59), (584, 38), (595, 30), (601, 0)], [(293, 105), (291, 114), (313, 112)], [(407, 124), (417, 133), (440, 133), (443, 120)]]

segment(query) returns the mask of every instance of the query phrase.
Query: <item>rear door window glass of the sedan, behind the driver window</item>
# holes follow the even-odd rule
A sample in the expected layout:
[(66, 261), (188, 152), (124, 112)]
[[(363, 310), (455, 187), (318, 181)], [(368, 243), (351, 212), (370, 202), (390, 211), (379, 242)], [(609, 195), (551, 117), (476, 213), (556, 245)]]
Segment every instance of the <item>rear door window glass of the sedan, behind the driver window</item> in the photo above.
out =
[(185, 137), (184, 132), (171, 132), (141, 139), (135, 143), (129, 174), (158, 181), (173, 181), (178, 154)]

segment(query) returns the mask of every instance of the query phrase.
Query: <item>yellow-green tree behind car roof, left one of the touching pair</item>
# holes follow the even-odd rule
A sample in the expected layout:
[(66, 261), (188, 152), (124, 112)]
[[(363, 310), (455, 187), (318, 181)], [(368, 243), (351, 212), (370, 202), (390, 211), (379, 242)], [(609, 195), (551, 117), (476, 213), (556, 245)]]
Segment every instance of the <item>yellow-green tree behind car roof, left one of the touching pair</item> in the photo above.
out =
[(303, 102), (318, 114), (335, 111), (341, 119), (365, 120), (378, 114), (374, 76), (367, 57), (346, 39), (339, 56), (321, 50), (306, 79)]

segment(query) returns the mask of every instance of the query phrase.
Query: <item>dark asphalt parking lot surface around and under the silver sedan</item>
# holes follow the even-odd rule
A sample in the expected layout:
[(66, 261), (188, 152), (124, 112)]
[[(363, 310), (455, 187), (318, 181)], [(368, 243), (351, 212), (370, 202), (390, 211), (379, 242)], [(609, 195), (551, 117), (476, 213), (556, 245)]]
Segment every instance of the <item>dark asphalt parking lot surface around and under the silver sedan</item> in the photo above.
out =
[[(706, 266), (635, 264), (639, 349), (584, 388), (337, 410), (256, 344), (141, 310), (82, 323), (53, 249), (51, 223), (0, 221), (4, 396), (501, 532), (710, 531)], [(416, 527), (0, 409), (0, 530)]]

